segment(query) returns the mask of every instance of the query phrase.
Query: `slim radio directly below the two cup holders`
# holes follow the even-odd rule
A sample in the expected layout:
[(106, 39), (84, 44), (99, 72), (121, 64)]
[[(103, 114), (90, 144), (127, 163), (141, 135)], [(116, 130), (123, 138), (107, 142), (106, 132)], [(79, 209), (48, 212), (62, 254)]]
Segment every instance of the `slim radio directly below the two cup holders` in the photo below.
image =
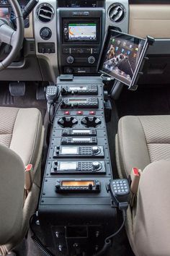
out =
[(97, 136), (96, 129), (63, 129), (62, 136)]

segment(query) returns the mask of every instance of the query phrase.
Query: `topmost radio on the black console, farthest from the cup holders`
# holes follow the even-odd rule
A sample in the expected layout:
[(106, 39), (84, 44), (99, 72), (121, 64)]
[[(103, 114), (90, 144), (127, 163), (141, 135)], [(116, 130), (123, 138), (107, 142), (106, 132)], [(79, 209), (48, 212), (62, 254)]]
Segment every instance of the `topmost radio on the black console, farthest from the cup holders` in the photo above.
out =
[(63, 85), (61, 89), (61, 95), (69, 94), (80, 94), (80, 95), (97, 95), (98, 87), (97, 85)]

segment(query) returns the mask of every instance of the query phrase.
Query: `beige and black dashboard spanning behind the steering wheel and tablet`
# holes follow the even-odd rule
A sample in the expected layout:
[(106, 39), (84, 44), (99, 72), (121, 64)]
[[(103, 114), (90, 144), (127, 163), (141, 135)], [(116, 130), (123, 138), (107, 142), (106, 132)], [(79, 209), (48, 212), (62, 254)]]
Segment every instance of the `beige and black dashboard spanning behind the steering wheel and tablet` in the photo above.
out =
[[(18, 0), (22, 9), (29, 0)], [(0, 0), (0, 17), (15, 17), (7, 0)], [(0, 80), (55, 82), (59, 74), (97, 75), (97, 62), (109, 26), (141, 38), (151, 35), (148, 75), (170, 80), (169, 0), (39, 0), (24, 21), (23, 58), (1, 72)], [(152, 59), (152, 58), (151, 58)], [(151, 67), (150, 67), (151, 66)], [(14, 69), (17, 69), (17, 73)]]

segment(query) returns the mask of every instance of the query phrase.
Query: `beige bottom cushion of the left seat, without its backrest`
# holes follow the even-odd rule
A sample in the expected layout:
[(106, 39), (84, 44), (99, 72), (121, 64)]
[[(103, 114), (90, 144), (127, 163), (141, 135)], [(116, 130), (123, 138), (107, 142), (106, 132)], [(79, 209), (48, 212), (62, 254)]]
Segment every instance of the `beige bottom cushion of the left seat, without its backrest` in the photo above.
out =
[(0, 107), (0, 142), (14, 150), (26, 166), (37, 161), (42, 117), (37, 108)]

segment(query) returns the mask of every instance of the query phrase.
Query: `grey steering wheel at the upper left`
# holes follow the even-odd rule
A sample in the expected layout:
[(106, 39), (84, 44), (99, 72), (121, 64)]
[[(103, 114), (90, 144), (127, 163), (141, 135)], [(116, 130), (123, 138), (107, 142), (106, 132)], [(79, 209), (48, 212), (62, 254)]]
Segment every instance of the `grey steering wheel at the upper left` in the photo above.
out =
[(6, 23), (0, 19), (0, 43), (7, 43), (8, 45), (12, 46), (12, 51), (10, 51), (9, 55), (6, 56), (3, 61), (0, 61), (0, 71), (8, 67), (12, 61), (14, 61), (22, 48), (22, 43), (24, 40), (24, 19), (22, 10), (19, 7), (17, 0), (9, 0), (9, 4), (11, 4), (16, 16), (17, 30), (15, 31), (12, 27), (6, 25)]

